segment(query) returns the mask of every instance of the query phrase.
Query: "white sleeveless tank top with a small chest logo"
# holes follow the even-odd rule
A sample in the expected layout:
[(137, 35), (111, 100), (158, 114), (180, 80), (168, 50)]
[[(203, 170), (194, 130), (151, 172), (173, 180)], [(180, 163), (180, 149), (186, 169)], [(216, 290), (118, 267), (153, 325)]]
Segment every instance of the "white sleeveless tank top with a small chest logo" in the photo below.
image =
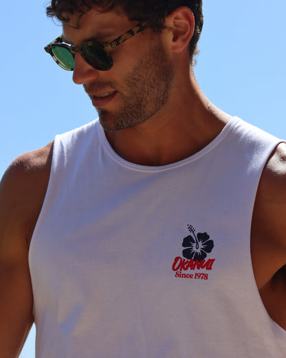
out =
[(146, 167), (98, 120), (56, 136), (30, 246), (36, 357), (285, 358), (250, 257), (278, 143), (232, 118), (190, 158)]

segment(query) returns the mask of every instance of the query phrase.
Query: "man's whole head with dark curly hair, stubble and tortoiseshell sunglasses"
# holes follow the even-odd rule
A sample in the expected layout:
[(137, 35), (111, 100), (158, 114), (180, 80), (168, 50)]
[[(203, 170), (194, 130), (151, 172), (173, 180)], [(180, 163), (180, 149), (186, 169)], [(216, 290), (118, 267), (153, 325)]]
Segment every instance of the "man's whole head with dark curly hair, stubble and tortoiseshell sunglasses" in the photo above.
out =
[[(45, 50), (58, 65), (73, 70), (74, 83), (84, 85), (105, 130), (143, 126), (151, 119), (159, 125), (181, 100), (178, 89), (190, 86), (192, 10), (168, 6), (160, 11), (157, 6), (154, 12), (154, 4), (146, 6), (142, 0), (136, 11), (132, 4), (127, 7), (129, 0), (124, 8), (119, 1), (82, 1), (52, 0), (47, 10), (62, 21), (63, 35)], [(110, 66), (106, 55), (112, 57)]]

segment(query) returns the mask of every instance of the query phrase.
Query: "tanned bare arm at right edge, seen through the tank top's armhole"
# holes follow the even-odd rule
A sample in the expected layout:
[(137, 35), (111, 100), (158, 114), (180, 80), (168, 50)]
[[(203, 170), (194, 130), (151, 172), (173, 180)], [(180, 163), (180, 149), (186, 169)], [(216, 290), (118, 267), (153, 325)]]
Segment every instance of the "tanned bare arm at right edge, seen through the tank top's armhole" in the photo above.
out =
[(270, 317), (286, 330), (286, 144), (267, 162), (252, 218), (252, 264)]

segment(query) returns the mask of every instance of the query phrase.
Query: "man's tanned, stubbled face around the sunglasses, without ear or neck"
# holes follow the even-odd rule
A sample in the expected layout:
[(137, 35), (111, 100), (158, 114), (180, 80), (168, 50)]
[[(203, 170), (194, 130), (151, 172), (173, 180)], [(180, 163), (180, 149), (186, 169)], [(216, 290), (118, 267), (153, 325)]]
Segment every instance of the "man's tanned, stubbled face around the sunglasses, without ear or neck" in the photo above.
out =
[[(98, 28), (105, 28), (102, 22), (105, 22), (107, 17), (111, 23), (122, 23), (111, 19), (112, 16), (122, 18), (122, 14), (109, 12), (96, 15), (98, 23), (101, 23)], [(124, 23), (126, 25), (121, 26), (121, 32), (119, 28), (114, 30), (114, 34), (117, 32), (115, 37), (134, 25), (126, 17)], [(92, 24), (94, 21), (89, 16), (83, 30), (91, 33)], [(83, 30), (81, 36), (85, 38)], [(114, 63), (111, 70), (94, 70), (83, 59), (78, 59), (78, 62), (76, 60), (74, 69), (75, 82), (83, 83), (85, 91), (98, 110), (100, 123), (107, 131), (134, 127), (152, 118), (168, 102), (173, 80), (173, 70), (166, 58), (159, 34), (153, 34), (149, 29), (118, 46), (111, 52), (111, 56)]]

